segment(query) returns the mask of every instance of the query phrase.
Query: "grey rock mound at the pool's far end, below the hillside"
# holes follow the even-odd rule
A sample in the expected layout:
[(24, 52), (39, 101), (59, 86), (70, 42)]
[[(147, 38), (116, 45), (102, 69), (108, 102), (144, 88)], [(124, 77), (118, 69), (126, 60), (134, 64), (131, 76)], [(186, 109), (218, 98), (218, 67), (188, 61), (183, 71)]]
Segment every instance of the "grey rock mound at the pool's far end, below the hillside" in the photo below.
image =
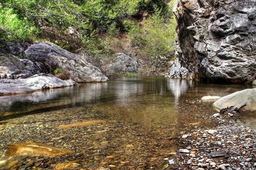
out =
[(141, 64), (124, 53), (117, 53), (115, 61), (104, 67), (108, 75), (115, 73), (140, 73)]

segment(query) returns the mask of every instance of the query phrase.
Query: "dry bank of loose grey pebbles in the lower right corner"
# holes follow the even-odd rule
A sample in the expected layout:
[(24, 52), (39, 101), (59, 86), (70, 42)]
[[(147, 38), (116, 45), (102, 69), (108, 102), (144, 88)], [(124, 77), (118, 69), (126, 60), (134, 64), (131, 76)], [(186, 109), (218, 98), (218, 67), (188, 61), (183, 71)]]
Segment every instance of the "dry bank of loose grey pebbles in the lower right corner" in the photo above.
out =
[(163, 166), (180, 170), (255, 170), (256, 130), (229, 120), (236, 113), (209, 119), (218, 121), (215, 129), (197, 128), (187, 130), (180, 141), (183, 148)]

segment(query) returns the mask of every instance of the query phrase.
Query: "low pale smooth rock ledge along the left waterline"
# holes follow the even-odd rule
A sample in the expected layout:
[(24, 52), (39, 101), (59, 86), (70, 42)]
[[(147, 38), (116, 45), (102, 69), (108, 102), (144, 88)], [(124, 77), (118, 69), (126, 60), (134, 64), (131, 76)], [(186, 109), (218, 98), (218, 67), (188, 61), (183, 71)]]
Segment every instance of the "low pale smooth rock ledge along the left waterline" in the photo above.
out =
[(51, 74), (47, 76), (34, 75), (27, 79), (1, 79), (0, 96), (28, 93), (47, 88), (67, 87), (77, 84), (73, 80), (61, 80)]

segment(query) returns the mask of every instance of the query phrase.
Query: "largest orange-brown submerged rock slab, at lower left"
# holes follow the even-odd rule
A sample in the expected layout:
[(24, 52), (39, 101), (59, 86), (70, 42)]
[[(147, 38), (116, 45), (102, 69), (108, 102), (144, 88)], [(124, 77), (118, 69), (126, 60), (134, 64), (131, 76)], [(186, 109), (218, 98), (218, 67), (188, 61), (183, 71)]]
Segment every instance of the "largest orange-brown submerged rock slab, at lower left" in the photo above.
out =
[(67, 153), (73, 153), (71, 150), (51, 147), (46, 144), (25, 142), (19, 144), (11, 144), (7, 147), (7, 156), (59, 156)]

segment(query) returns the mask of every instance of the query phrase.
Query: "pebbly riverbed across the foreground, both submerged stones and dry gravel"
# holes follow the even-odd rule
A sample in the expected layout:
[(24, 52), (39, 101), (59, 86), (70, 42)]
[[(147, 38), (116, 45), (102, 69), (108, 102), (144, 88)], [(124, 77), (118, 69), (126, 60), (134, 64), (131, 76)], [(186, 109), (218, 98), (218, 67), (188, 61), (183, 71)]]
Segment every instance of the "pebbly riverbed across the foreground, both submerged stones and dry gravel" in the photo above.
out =
[[(254, 170), (256, 130), (232, 124), (233, 115), (215, 114), (205, 121), (216, 121), (217, 127), (206, 129), (195, 122), (182, 132), (145, 129), (81, 107), (8, 119), (0, 122), (0, 170)], [(31, 140), (72, 152), (9, 155), (9, 145)]]

